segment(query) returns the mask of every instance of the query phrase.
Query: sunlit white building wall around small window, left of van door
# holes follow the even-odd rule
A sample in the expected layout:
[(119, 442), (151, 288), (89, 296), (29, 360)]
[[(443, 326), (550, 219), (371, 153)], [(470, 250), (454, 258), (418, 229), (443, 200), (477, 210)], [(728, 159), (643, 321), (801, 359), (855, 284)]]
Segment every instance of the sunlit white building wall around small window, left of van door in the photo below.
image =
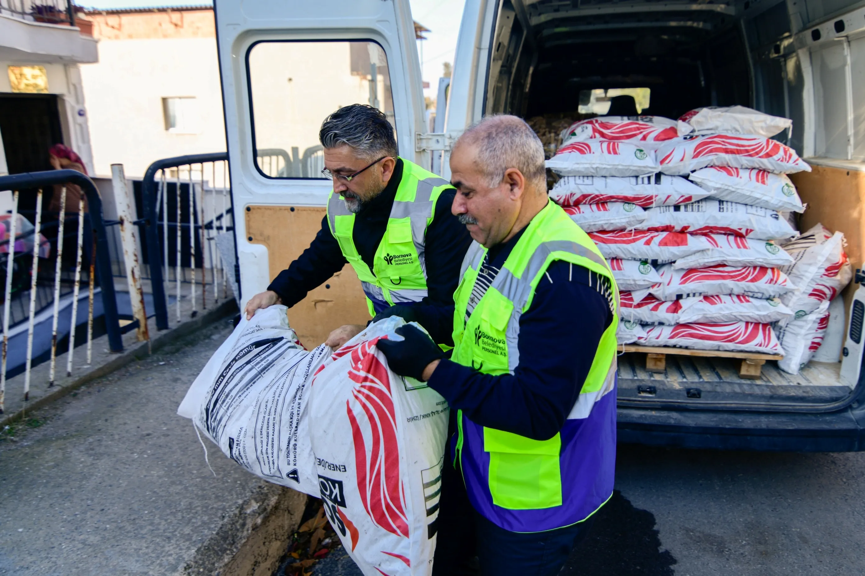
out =
[[(100, 40), (99, 63), (81, 66), (94, 174), (122, 163), (144, 176), (160, 158), (226, 149), (215, 38)], [(194, 96), (197, 134), (165, 130), (163, 98)]]

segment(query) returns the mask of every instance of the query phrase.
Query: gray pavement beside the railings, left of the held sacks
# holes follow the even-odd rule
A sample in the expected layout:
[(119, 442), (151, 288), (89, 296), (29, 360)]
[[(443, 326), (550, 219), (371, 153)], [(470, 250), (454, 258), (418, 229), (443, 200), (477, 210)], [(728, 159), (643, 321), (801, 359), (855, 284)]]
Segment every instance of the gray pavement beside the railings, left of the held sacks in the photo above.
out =
[(176, 415), (230, 331), (205, 326), (29, 414), (15, 440), (3, 434), (0, 574), (213, 574), (231, 558), (282, 489), (208, 445), (215, 477)]

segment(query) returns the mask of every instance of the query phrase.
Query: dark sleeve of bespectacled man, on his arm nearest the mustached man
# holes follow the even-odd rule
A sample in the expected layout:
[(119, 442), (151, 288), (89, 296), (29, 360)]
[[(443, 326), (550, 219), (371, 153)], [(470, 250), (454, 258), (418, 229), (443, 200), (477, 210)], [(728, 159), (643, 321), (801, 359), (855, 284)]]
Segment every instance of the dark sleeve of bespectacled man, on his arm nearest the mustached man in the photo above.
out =
[(459, 284), (459, 267), (471, 245), (471, 236), (451, 214), (455, 189), (445, 189), (436, 202), (435, 214), (426, 229), (427, 296), (414, 304), (418, 323), (432, 339), (451, 345), (453, 332), (453, 292)]

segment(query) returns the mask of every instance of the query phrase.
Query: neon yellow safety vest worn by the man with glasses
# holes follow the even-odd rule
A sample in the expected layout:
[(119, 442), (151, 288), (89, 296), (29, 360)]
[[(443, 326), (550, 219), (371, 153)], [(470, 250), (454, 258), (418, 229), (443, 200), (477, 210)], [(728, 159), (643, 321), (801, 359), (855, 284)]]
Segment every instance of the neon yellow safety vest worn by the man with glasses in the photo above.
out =
[(393, 304), (426, 297), (426, 227), (435, 214), (439, 195), (450, 187), (444, 178), (402, 159), (402, 177), (390, 210), (388, 227), (375, 250), (372, 270), (357, 253), (355, 214), (332, 190), (327, 218), (330, 233), (355, 269), (367, 296), (370, 316)]

